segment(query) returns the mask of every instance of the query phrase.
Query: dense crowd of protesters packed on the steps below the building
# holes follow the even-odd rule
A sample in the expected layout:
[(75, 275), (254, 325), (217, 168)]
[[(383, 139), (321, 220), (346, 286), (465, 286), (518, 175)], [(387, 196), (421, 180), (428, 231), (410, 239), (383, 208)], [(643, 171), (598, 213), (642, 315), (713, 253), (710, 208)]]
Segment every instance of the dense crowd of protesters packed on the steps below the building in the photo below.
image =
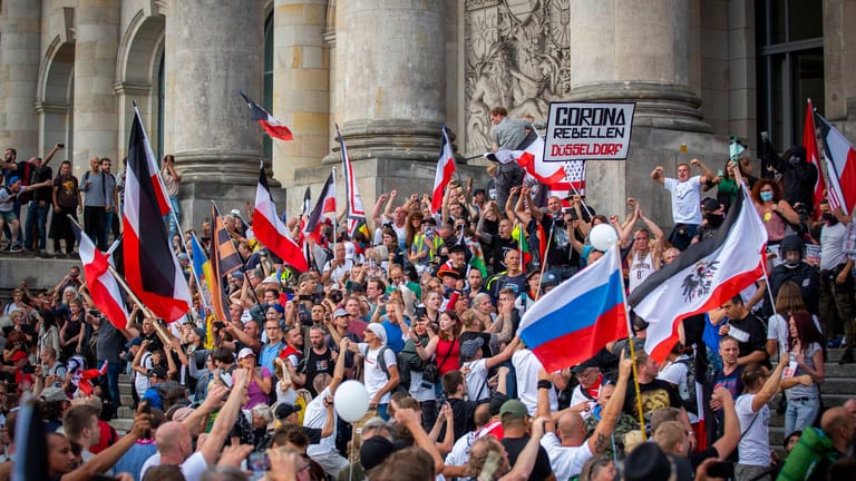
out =
[[(502, 107), (490, 119), (495, 149), (531, 135)], [(123, 176), (105, 158), (81, 183), (67, 163), (51, 178), (60, 148), (18, 164), (7, 149), (0, 218), (12, 252), (46, 252), (51, 205), (55, 253), (60, 240), (74, 253), (62, 218), (79, 212), (108, 247)], [(846, 479), (856, 399), (824, 405), (820, 385), (828, 349), (854, 361), (852, 219), (814, 205), (817, 171), (800, 149), (765, 145), (759, 166), (733, 157), (716, 171), (693, 159), (677, 177), (656, 167), (669, 234), (645, 199), (596, 214), (584, 197), (544, 196), (514, 163), (497, 163), (485, 188), (449, 183), (437, 212), (427, 195), (391, 190), (364, 228), (323, 224), (308, 236), (303, 273), (254, 238), (247, 203), (223, 218), (243, 262), (225, 284), (228, 318), (213, 318), (189, 232), (182, 238), (167, 218), (196, 293), (184, 320), (164, 324), (129, 302), (130, 322), (117, 328), (79, 267), (50, 289), (21, 282), (3, 300), (0, 479), (23, 450), (16, 422), (27, 402), (45, 425), (51, 480)], [(162, 175), (177, 196), (172, 156)], [(648, 324), (635, 316), (630, 338), (552, 373), (517, 337), (527, 308), (603, 255), (587, 242), (594, 226), (614, 227), (633, 291), (712, 237), (741, 185), (768, 233), (769, 275), (684, 320), (664, 362), (645, 353)], [(304, 220), (288, 219), (295, 238)], [(211, 223), (194, 232), (211, 243)], [(368, 392), (368, 412), (346, 422), (337, 405), (350, 401), (337, 393), (351, 380)], [(774, 410), (784, 446), (770, 442)], [(133, 425), (119, 436), (109, 421), (123, 413)]]

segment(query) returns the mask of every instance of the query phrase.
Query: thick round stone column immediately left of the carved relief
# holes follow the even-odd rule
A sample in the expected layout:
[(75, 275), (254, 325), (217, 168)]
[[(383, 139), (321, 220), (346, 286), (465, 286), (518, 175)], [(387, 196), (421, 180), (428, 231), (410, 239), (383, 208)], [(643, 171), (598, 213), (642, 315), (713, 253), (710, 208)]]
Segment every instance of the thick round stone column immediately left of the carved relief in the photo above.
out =
[(444, 2), (344, 1), (337, 22), (337, 118), (351, 159), (436, 161), (449, 61)]

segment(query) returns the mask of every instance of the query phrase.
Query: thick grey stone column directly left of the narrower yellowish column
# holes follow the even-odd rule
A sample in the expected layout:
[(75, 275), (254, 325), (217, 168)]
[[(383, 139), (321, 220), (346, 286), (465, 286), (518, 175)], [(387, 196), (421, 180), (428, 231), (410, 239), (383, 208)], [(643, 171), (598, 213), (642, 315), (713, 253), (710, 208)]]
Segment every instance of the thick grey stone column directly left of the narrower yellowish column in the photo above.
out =
[[(167, 121), (185, 184), (255, 185), (261, 128), (239, 96), (262, 101), (263, 0), (182, 0), (166, 16)], [(222, 207), (221, 207), (222, 208)]]

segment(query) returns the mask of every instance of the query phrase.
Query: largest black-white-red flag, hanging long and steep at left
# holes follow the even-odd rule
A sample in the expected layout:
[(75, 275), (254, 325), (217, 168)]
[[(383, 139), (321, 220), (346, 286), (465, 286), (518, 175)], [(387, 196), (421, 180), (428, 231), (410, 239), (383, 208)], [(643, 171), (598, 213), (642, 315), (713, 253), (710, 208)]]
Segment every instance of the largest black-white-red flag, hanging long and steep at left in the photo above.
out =
[[(191, 308), (191, 289), (163, 222), (162, 185), (150, 161), (152, 148), (135, 109), (125, 176), (124, 259), (128, 286), (158, 317), (173, 322)], [(168, 203), (167, 203), (168, 204)]]

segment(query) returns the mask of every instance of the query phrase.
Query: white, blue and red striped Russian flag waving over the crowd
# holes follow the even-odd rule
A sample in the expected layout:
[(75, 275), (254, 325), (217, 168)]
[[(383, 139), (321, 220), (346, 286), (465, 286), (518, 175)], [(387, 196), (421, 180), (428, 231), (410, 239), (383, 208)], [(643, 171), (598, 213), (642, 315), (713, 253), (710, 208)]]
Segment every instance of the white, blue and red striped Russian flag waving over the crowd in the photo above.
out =
[(628, 336), (628, 315), (616, 249), (526, 310), (518, 335), (548, 372), (593, 357)]

